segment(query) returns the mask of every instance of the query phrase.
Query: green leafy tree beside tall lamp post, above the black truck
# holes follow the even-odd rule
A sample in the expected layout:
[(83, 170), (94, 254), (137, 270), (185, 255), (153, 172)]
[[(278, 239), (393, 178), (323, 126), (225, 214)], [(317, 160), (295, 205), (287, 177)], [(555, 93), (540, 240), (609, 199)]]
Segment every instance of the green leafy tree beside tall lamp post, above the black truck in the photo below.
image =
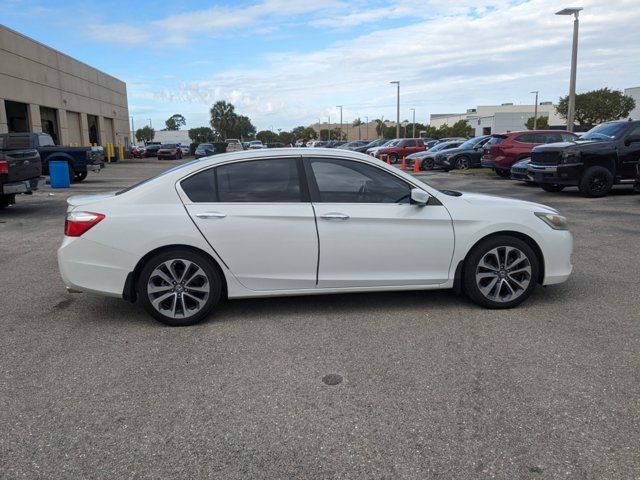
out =
[[(627, 97), (619, 90), (601, 88), (576, 95), (575, 121), (582, 129), (589, 129), (611, 120), (626, 118), (636, 106), (633, 98)], [(569, 96), (561, 97), (558, 103), (558, 114), (567, 118)]]

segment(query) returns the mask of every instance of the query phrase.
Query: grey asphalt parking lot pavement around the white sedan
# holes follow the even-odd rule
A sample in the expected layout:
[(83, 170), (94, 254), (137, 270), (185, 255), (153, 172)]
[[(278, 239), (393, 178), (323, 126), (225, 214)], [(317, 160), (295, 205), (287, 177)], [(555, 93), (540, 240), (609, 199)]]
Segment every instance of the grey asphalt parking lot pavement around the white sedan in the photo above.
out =
[(1, 478), (637, 477), (640, 195), (421, 174), (568, 216), (573, 276), (515, 310), (452, 292), (234, 300), (166, 328), (67, 294), (69, 193), (176, 163), (110, 165), (0, 212)]

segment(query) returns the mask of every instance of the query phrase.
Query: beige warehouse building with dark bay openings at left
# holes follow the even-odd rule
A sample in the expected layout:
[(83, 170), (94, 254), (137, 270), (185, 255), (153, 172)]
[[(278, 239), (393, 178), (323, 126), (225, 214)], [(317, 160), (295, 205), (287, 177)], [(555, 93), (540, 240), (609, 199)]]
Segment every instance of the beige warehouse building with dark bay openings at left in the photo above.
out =
[(128, 147), (126, 84), (0, 25), (0, 133)]

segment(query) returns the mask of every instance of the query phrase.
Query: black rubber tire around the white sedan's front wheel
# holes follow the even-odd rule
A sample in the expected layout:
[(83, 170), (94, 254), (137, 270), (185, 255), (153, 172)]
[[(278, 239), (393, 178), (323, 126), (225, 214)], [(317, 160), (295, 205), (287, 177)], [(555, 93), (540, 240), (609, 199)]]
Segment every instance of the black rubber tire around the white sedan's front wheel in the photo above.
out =
[[(506, 248), (516, 249), (519, 251), (519, 253), (514, 250), (508, 251)], [(493, 290), (490, 289), (488, 292), (483, 293), (483, 291), (480, 289), (481, 286), (478, 283), (480, 282), (482, 287), (485, 289), (490, 288), (490, 283), (493, 282), (494, 277), (492, 276), (492, 270), (481, 266), (480, 261), (485, 258), (485, 256), (490, 256), (491, 252), (493, 251), (497, 251), (497, 255), (504, 253), (505, 257), (507, 258), (505, 259), (503, 265), (496, 264), (496, 283), (494, 284), (495, 286), (493, 287)], [(522, 254), (522, 256), (520, 256), (520, 254)], [(520, 257), (517, 257), (516, 255)], [(525, 257), (526, 261), (524, 260)], [(507, 269), (506, 267), (508, 266), (509, 262), (515, 261), (514, 259), (516, 258), (521, 258), (521, 260), (519, 260), (518, 263), (515, 264), (515, 267)], [(497, 256), (496, 260), (498, 260)], [(523, 266), (528, 266), (529, 271), (516, 271), (518, 269), (521, 269)], [(509, 235), (490, 237), (481, 241), (467, 255), (463, 267), (463, 289), (466, 295), (474, 303), (482, 307), (492, 309), (513, 308), (524, 302), (533, 292), (538, 281), (539, 268), (540, 267), (538, 258), (535, 252), (523, 240)], [(486, 278), (478, 280), (479, 275), (486, 276)], [(525, 288), (519, 289), (517, 291), (518, 295), (513, 299), (509, 299), (509, 297), (506, 297), (506, 295), (505, 298), (501, 298), (501, 293), (504, 292), (506, 294), (509, 294), (510, 290), (513, 291), (513, 287), (510, 286), (513, 285), (511, 283), (513, 280), (515, 280), (518, 284), (521, 284)], [(508, 285), (503, 286), (503, 281)], [(526, 286), (525, 281), (527, 282)], [(492, 291), (496, 292), (494, 298), (496, 298), (497, 300), (490, 298), (490, 294)], [(515, 293), (516, 292), (514, 292), (512, 295), (514, 295)]]

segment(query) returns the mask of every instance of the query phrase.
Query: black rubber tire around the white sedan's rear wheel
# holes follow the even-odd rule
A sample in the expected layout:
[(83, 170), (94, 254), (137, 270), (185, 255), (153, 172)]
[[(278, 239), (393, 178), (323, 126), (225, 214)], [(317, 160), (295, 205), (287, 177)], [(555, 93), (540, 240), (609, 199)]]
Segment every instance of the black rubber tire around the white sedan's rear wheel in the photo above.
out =
[[(185, 261), (191, 262), (191, 266), (187, 266), (186, 271)], [(154, 273), (157, 272), (157, 268), (161, 268), (165, 273), (165, 277), (169, 279), (175, 278), (175, 275), (172, 276), (171, 271), (163, 266), (165, 262), (170, 262), (170, 265), (173, 266), (178, 276), (181, 271), (184, 272), (182, 274), (183, 277), (195, 273), (195, 267), (199, 268), (201, 273), (197, 276), (194, 275), (194, 282), (196, 283), (183, 281), (182, 283), (173, 282), (173, 284), (170, 284), (167, 281), (163, 281), (160, 276)], [(158, 285), (158, 279), (160, 279), (163, 284)], [(197, 283), (200, 283), (200, 285)], [(150, 293), (148, 287), (159, 287), (164, 290)], [(173, 290), (170, 290), (171, 288), (173, 288)], [(194, 290), (189, 291), (189, 288), (193, 288)], [(208, 292), (206, 296), (202, 291), (196, 291), (196, 288), (207, 288)], [(172, 248), (171, 250), (166, 250), (154, 255), (147, 260), (138, 278), (137, 294), (142, 306), (153, 318), (172, 327), (185, 327), (194, 325), (206, 318), (218, 304), (222, 294), (222, 276), (216, 265), (206, 255), (185, 248)], [(158, 308), (156, 308), (152, 304), (152, 299), (149, 298), (150, 295), (157, 295), (154, 298), (156, 301), (162, 296), (169, 296), (166, 297), (165, 300), (157, 303)], [(194, 299), (201, 301), (196, 302)], [(185, 310), (189, 310), (189, 305), (200, 306), (197, 311), (185, 315), (185, 313), (188, 313), (185, 312)], [(176, 312), (176, 316), (166, 315), (161, 311), (165, 310), (171, 313), (172, 307)], [(182, 315), (180, 315), (180, 312), (182, 312)]]

